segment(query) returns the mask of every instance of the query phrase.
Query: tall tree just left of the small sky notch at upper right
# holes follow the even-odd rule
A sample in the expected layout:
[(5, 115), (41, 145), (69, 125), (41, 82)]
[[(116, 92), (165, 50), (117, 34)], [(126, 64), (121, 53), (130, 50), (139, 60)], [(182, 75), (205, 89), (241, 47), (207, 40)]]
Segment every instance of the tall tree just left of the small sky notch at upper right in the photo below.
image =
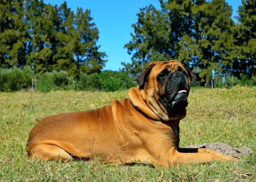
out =
[(199, 76), (202, 82), (209, 82), (213, 70), (215, 74), (227, 73), (225, 67), (231, 65), (235, 57), (232, 8), (225, 0), (212, 0), (196, 6), (194, 12), (200, 16), (197, 21), (198, 45), (202, 52), (198, 62)]

